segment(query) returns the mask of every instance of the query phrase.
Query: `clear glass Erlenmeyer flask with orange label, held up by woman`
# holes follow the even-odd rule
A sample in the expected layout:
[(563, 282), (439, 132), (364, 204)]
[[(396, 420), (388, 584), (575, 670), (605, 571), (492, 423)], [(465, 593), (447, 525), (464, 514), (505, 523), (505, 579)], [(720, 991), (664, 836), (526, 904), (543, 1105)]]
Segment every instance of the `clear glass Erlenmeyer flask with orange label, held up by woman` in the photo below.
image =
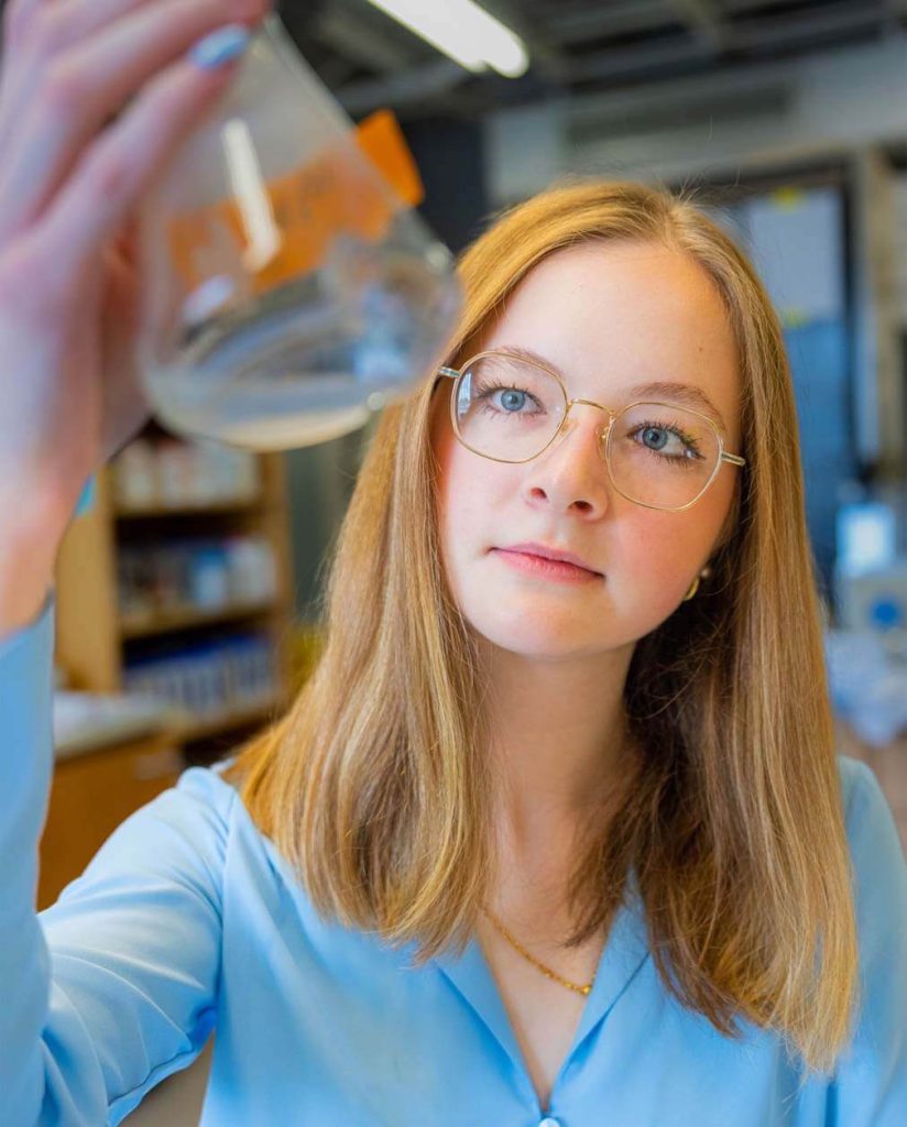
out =
[(255, 450), (345, 434), (412, 391), (461, 307), (276, 16), (150, 194), (139, 360), (167, 427)]

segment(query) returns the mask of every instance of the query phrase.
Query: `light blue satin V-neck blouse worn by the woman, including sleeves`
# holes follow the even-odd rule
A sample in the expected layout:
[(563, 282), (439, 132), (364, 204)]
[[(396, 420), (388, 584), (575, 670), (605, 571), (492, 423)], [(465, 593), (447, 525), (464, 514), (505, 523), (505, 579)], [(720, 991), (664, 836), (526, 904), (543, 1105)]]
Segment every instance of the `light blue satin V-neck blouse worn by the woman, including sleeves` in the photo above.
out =
[[(216, 1029), (217, 1127), (905, 1127), (907, 869), (872, 772), (839, 760), (864, 1000), (830, 1080), (663, 990), (619, 915), (542, 1109), (481, 948), (408, 964), (322, 922), (216, 769), (118, 828), (34, 912), (53, 749), (53, 603), (0, 642), (0, 1122), (117, 1124)], [(817, 859), (820, 860), (820, 859)]]

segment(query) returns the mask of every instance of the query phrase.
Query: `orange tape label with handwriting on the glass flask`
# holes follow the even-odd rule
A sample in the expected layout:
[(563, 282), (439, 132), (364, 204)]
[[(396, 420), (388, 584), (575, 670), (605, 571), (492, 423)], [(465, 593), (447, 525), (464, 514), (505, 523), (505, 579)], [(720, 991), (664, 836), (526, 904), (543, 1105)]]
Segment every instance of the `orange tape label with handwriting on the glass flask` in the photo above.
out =
[(216, 274), (234, 275), (239, 256), (251, 292), (267, 293), (311, 272), (341, 232), (381, 240), (394, 212), (424, 198), (423, 184), (390, 110), (367, 117), (354, 139), (355, 145), (171, 220), (170, 251), (187, 291)]

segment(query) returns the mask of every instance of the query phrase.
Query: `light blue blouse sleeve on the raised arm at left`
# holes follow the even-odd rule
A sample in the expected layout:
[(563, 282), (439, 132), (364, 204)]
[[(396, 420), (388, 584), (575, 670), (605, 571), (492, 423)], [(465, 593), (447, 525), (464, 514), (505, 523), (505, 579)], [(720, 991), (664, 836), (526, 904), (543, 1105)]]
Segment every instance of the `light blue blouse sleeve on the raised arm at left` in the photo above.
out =
[(37, 914), (52, 611), (0, 645), (0, 1120), (97, 1127), (189, 1065), (214, 1024), (233, 792), (185, 772)]

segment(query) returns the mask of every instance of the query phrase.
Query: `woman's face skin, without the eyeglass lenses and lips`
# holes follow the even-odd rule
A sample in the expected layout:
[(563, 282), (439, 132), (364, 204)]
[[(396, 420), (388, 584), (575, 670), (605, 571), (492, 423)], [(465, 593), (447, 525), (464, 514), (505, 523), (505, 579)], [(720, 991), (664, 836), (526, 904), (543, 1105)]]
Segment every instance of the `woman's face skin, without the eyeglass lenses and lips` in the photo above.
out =
[[(570, 399), (614, 409), (637, 383), (690, 384), (720, 412), (724, 449), (740, 453), (727, 312), (704, 270), (677, 251), (586, 242), (549, 256), (470, 354), (513, 347), (560, 371)], [(608, 480), (597, 437), (604, 412), (577, 405), (559, 442), (532, 461), (503, 463), (457, 442), (450, 398), (445, 380), (432, 420), (442, 557), (479, 635), (526, 657), (595, 656), (632, 646), (677, 609), (718, 542), (739, 469), (723, 463), (685, 512), (643, 508)], [(526, 541), (572, 552), (601, 576), (564, 583), (524, 570), (503, 549)]]

